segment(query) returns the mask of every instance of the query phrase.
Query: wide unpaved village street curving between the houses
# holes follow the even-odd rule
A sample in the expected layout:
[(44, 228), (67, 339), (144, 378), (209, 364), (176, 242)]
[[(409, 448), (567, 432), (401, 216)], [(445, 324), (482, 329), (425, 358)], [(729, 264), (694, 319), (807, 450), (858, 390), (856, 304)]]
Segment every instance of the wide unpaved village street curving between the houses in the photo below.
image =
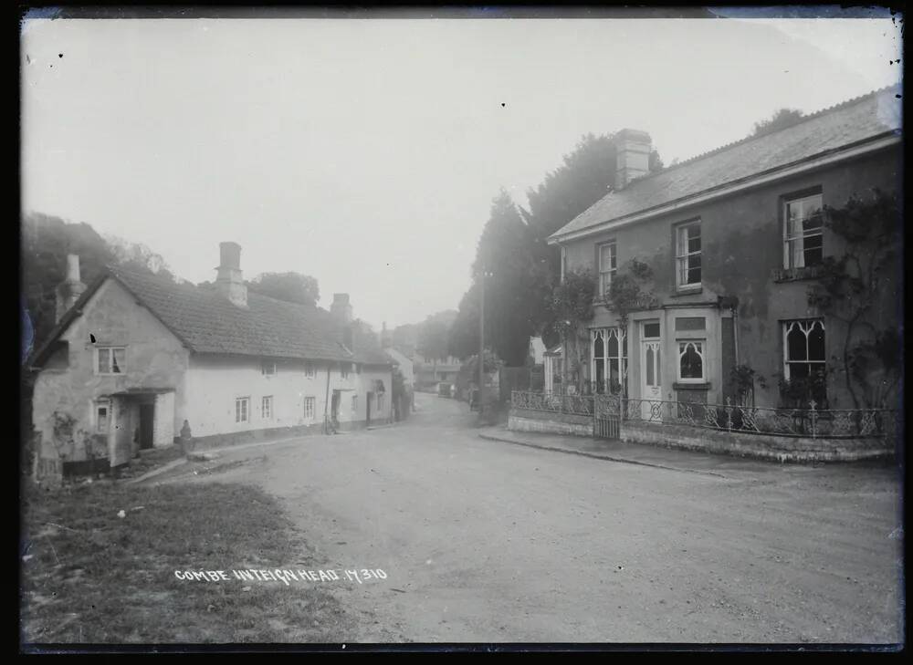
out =
[(382, 569), (320, 583), (362, 616), (352, 641), (902, 639), (887, 466), (606, 462), (482, 440), (466, 404), (416, 399), (404, 424), (223, 452), (247, 462), (178, 482), (256, 483), (326, 568)]

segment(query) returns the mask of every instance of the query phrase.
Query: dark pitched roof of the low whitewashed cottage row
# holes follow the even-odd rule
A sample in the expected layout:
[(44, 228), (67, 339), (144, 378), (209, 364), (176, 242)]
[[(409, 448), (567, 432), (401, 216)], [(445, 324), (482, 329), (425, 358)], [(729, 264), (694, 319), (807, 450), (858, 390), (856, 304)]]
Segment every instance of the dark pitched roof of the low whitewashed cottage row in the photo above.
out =
[[(61, 318), (35, 354), (40, 363), (47, 349), (79, 314), (106, 278), (116, 279), (194, 353), (303, 358), (390, 365), (379, 343), (358, 327), (354, 348), (343, 346), (341, 327), (320, 307), (276, 300), (248, 291), (247, 309), (236, 307), (214, 287), (175, 284), (156, 275), (109, 267)], [(375, 348), (376, 347), (376, 348)]]

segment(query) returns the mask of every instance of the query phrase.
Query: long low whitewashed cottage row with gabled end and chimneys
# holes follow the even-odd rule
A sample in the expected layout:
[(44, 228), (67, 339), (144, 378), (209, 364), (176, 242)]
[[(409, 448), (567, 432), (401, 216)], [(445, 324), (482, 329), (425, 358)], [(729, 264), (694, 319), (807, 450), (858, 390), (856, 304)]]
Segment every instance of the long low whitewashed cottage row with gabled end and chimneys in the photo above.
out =
[(36, 474), (171, 445), (242, 441), (389, 421), (392, 363), (331, 311), (247, 293), (240, 246), (221, 244), (215, 286), (109, 268), (90, 286), (69, 257), (58, 324), (31, 358)]

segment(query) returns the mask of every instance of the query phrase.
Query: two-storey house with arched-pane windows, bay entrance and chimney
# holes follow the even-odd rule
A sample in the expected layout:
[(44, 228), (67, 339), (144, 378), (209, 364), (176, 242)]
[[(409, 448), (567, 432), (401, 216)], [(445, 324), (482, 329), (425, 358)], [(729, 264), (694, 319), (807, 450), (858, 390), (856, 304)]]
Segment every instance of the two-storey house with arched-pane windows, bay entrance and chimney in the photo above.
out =
[[(598, 280), (577, 379), (633, 400), (719, 404), (736, 397), (733, 369), (748, 366), (766, 377), (754, 390), (758, 406), (778, 405), (780, 381), (820, 377), (819, 407), (852, 408), (833, 360), (845, 323), (806, 294), (825, 257), (842, 252), (824, 206), (875, 188), (902, 191), (899, 97), (878, 90), (656, 173), (650, 136), (618, 132), (614, 190), (549, 240), (561, 248), (562, 277), (587, 268)], [(607, 298), (634, 259), (652, 276), (622, 326)], [(885, 284), (899, 288), (897, 279)], [(873, 304), (876, 326), (902, 324), (897, 294), (886, 289)]]

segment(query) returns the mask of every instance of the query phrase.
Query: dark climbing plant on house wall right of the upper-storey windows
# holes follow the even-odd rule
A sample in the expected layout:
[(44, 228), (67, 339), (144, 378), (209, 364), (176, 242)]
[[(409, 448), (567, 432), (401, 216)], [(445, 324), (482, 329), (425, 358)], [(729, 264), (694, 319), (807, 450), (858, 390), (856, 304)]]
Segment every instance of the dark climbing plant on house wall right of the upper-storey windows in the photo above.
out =
[(875, 189), (842, 208), (824, 206), (824, 228), (842, 254), (824, 257), (808, 303), (843, 324), (834, 360), (855, 409), (885, 407), (901, 379), (903, 346), (890, 313), (899, 302), (901, 224), (895, 192)]

